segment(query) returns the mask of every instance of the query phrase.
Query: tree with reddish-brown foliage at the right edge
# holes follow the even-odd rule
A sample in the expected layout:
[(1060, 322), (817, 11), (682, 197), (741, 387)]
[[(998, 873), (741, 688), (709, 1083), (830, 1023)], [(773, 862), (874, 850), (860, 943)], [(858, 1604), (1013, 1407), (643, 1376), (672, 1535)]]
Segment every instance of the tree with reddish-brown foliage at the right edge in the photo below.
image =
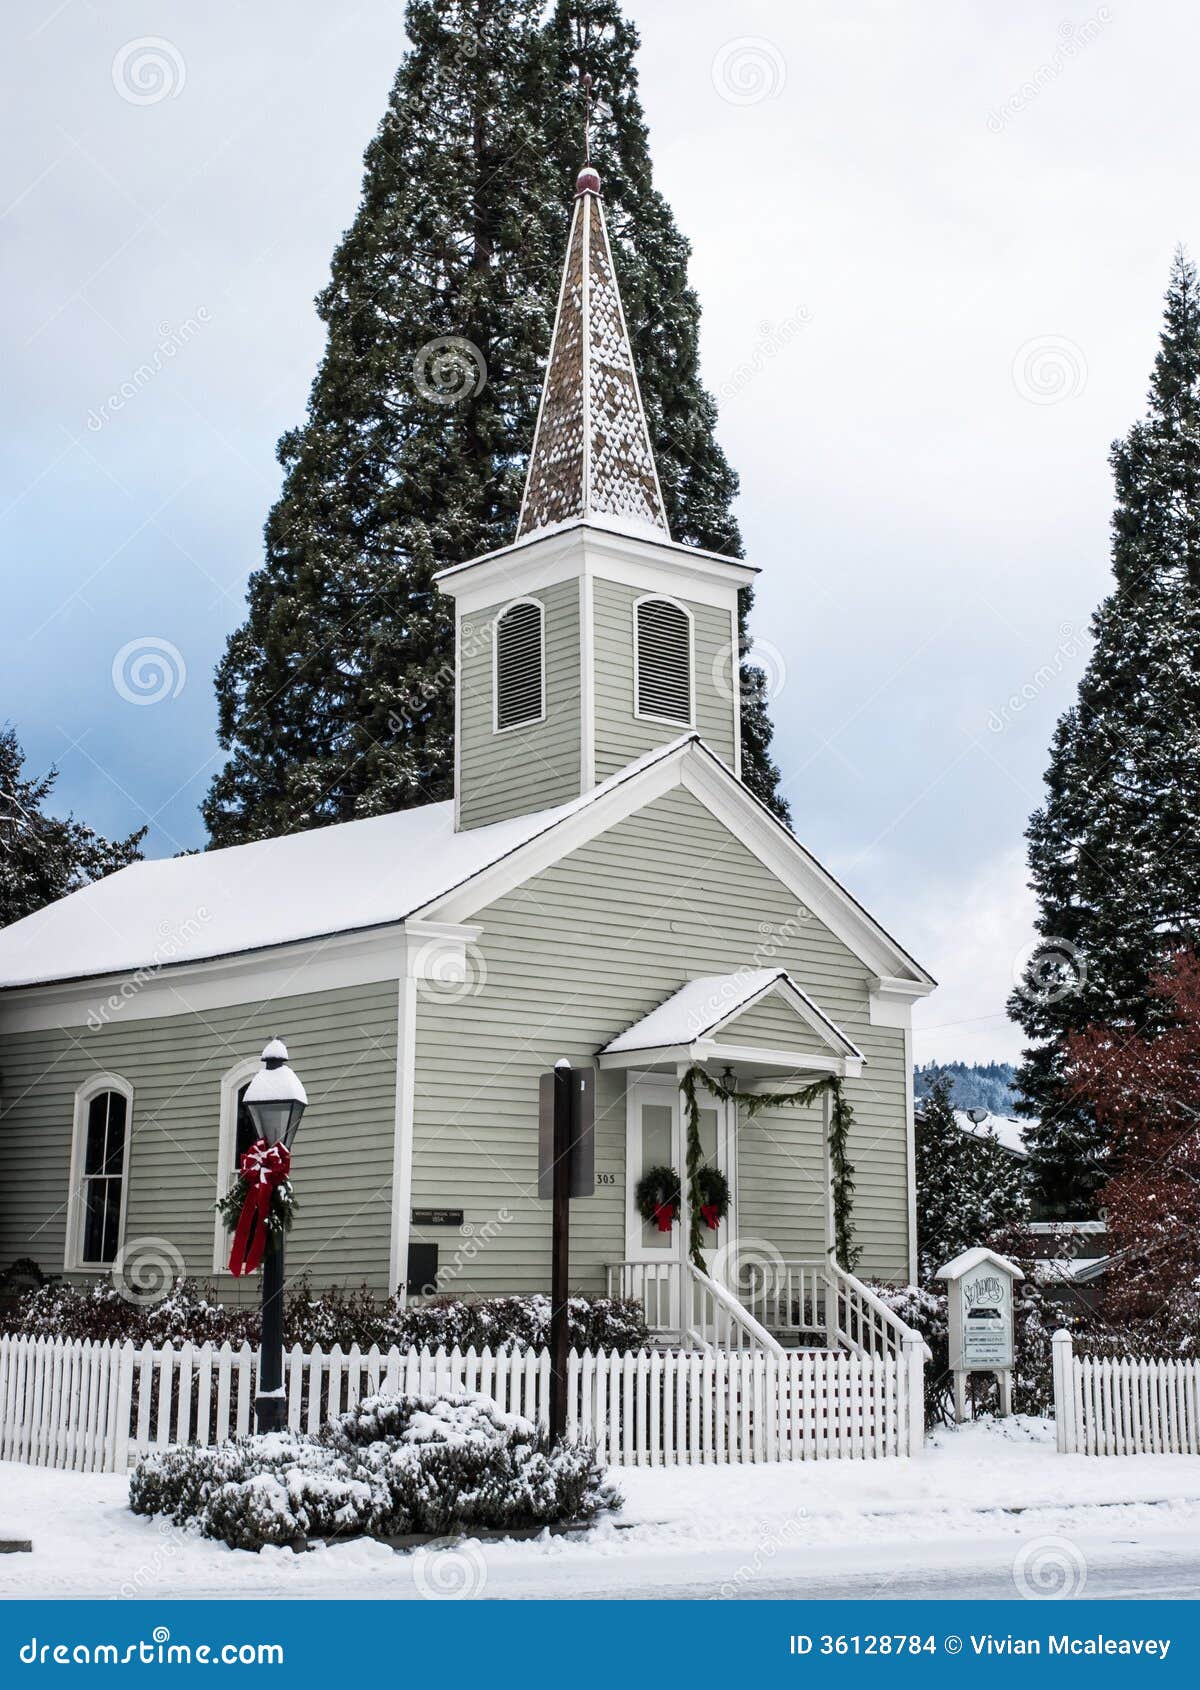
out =
[(1200, 957), (1178, 951), (1149, 992), (1149, 1028), (1066, 1039), (1073, 1092), (1110, 1132), (1100, 1202), (1121, 1256), (1105, 1311), (1136, 1320), (1200, 1289)]

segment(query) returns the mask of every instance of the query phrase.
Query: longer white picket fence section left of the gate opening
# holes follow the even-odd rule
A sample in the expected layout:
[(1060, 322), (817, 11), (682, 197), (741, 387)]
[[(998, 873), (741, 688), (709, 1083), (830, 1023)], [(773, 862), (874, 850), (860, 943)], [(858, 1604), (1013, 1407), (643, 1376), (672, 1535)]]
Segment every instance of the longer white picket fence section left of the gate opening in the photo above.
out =
[[(125, 1472), (150, 1448), (252, 1430), (248, 1344), (0, 1338), (0, 1458)], [(284, 1357), (287, 1425), (316, 1431), (375, 1391), (477, 1391), (548, 1423), (549, 1352), (296, 1345)], [(859, 1460), (914, 1453), (919, 1354), (571, 1354), (568, 1435), (608, 1464)]]

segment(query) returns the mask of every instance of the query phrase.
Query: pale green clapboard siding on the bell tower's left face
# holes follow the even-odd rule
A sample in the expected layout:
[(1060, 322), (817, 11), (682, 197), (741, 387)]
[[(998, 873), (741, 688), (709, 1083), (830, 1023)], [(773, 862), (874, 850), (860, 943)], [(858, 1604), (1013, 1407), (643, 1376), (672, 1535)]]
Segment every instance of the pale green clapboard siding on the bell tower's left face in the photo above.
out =
[(460, 627), (460, 821), (549, 810), (580, 791), (580, 583), (532, 595), (544, 605), (546, 718), (494, 732), (492, 624), (504, 603), (463, 617)]

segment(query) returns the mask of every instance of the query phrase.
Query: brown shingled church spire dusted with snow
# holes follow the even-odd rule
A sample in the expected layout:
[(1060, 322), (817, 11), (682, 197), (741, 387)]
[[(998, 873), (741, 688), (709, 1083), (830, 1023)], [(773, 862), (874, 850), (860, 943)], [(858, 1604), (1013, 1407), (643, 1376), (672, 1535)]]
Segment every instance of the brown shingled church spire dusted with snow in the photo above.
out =
[(575, 184), (517, 539), (581, 517), (669, 539), (612, 267), (600, 177), (590, 164)]

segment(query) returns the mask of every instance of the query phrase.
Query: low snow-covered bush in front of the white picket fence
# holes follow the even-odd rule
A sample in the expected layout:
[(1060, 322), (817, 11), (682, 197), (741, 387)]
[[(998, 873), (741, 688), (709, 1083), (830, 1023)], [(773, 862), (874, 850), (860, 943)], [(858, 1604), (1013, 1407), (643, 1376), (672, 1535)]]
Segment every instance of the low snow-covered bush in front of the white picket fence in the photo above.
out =
[(240, 1550), (543, 1526), (619, 1506), (590, 1448), (551, 1450), (531, 1421), (477, 1396), (374, 1396), (318, 1436), (159, 1450), (130, 1475), (135, 1514), (194, 1523)]

